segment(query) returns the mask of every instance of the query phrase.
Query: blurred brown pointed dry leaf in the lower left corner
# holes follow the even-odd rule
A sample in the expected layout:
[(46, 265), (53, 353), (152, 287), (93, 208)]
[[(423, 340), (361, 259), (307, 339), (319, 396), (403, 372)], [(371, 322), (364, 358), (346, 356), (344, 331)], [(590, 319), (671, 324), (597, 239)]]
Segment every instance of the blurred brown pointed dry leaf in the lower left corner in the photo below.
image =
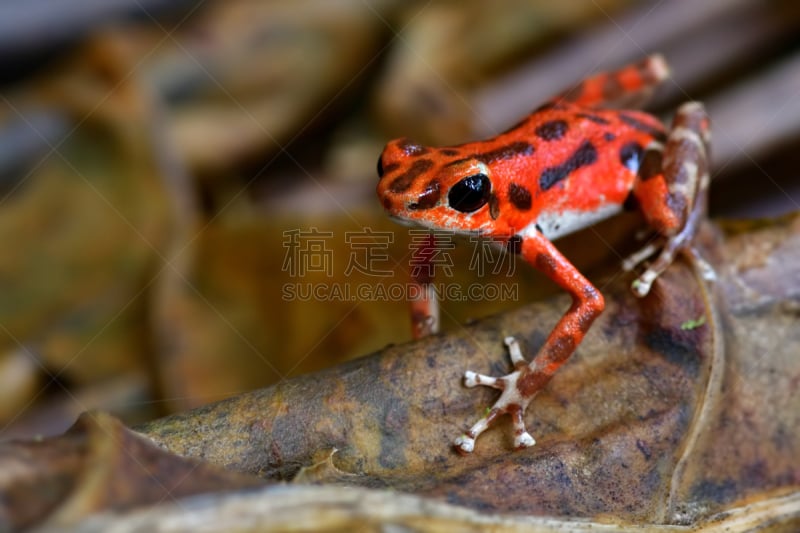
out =
[(59, 437), (0, 444), (0, 530), (261, 484), (165, 452), (113, 417), (87, 413)]

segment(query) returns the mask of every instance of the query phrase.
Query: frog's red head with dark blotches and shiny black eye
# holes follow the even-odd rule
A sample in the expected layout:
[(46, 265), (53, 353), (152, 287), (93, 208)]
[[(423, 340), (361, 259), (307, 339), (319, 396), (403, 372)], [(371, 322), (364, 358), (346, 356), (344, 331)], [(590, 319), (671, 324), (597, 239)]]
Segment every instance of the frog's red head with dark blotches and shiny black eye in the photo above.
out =
[(428, 148), (396, 139), (378, 159), (378, 197), (396, 220), (432, 229), (491, 233), (492, 170), (469, 145)]

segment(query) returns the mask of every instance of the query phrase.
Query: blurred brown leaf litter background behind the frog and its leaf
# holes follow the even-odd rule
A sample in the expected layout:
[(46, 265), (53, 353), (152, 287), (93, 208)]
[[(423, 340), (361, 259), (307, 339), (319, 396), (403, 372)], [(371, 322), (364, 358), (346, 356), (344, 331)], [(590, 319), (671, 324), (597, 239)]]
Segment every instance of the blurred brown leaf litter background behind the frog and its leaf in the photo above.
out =
[[(709, 109), (712, 216), (796, 210), (799, 30), (792, 0), (0, 2), (0, 440), (407, 341), (383, 144), (493, 135), (646, 54), (654, 112)], [(618, 275), (630, 217), (559, 246)], [(449, 280), (518, 292), (445, 301), (445, 329), (554, 292), (457, 242)]]

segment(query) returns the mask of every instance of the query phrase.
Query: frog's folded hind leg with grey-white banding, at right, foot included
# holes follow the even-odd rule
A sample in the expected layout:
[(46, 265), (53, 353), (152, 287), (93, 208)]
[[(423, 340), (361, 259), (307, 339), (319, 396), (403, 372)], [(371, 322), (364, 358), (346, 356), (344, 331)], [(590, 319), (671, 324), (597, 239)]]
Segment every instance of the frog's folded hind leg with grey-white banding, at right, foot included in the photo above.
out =
[[(647, 147), (639, 166), (633, 195), (647, 220), (660, 235), (622, 264), (632, 270), (660, 249), (659, 255), (633, 282), (637, 296), (645, 296), (653, 281), (678, 252), (688, 254), (710, 277), (710, 267), (692, 248), (692, 240), (706, 212), (709, 183), (708, 115), (699, 102), (688, 102), (672, 122), (666, 144)], [(663, 154), (663, 155), (662, 155)]]

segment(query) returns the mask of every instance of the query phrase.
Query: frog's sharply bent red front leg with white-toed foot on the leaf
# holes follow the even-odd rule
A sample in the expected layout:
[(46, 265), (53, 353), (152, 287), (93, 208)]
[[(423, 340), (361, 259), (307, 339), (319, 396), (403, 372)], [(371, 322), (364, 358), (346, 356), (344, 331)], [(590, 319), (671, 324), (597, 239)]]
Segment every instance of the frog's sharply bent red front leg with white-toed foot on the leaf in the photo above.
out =
[(502, 392), (486, 416), (455, 440), (454, 445), (461, 453), (471, 452), (475, 439), (503, 414), (512, 417), (514, 447), (533, 446), (536, 441), (525, 429), (523, 418), (528, 404), (572, 355), (594, 319), (603, 311), (600, 292), (541, 233), (533, 231), (522, 237), (521, 253), (528, 263), (570, 293), (572, 305), (530, 363), (525, 362), (519, 345), (509, 337), (506, 345), (514, 364), (513, 372), (499, 378), (465, 373), (466, 386), (486, 385)]

